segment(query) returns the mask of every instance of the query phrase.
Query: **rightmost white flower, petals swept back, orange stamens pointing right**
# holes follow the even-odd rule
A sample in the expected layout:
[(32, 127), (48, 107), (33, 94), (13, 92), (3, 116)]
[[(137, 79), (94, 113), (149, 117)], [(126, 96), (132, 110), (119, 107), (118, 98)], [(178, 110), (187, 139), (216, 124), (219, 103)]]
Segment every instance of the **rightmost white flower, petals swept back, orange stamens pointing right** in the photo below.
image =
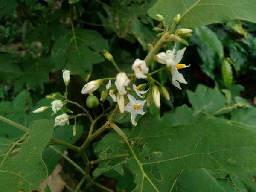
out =
[[(175, 47), (176, 47), (176, 45), (174, 46), (172, 51), (168, 50), (168, 51), (166, 51), (166, 53), (161, 52), (161, 53), (157, 54), (156, 60), (161, 64), (167, 65), (167, 67), (169, 68), (169, 70), (172, 73), (172, 84), (175, 87), (181, 89), (179, 83), (187, 84), (187, 82), (184, 79), (184, 76), (178, 71), (178, 69), (183, 69), (183, 68), (189, 67), (190, 65), (187, 66), (185, 64), (178, 64), (181, 61), (186, 48), (183, 48), (183, 49), (177, 51), (177, 53), (176, 53)], [(176, 53), (176, 55), (175, 55), (175, 53)]]

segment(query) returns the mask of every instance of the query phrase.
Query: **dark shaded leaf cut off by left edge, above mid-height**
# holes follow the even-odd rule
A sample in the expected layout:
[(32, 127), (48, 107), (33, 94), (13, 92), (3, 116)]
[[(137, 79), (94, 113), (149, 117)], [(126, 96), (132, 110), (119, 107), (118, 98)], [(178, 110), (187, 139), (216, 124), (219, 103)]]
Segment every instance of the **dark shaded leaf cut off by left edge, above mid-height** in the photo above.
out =
[(1, 53), (0, 61), (0, 81), (12, 81), (24, 74), (20, 67), (13, 63), (11, 54)]

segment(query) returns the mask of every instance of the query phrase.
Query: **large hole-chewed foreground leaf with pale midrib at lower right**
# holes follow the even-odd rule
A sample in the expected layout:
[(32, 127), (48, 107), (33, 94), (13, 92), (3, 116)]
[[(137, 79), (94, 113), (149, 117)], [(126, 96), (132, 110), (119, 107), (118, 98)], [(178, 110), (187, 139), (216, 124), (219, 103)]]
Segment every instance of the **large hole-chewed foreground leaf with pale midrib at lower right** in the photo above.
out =
[[(113, 157), (126, 150), (129, 156), (108, 169), (119, 172), (120, 165), (128, 163), (135, 175), (135, 191), (169, 192), (175, 191), (183, 169), (218, 169), (237, 175), (254, 171), (255, 139), (255, 132), (234, 125), (201, 122), (169, 127), (146, 113), (127, 141), (117, 134), (107, 135), (95, 151), (100, 157)], [(211, 189), (207, 187), (204, 191)]]

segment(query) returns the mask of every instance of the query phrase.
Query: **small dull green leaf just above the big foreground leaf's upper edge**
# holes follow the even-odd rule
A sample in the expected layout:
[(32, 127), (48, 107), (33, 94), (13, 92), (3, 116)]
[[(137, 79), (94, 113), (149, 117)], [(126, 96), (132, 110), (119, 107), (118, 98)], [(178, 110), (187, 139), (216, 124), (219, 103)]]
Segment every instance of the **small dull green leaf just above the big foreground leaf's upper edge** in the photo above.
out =
[(195, 119), (188, 106), (182, 105), (165, 113), (161, 118), (161, 122), (170, 127), (174, 127), (194, 123)]

